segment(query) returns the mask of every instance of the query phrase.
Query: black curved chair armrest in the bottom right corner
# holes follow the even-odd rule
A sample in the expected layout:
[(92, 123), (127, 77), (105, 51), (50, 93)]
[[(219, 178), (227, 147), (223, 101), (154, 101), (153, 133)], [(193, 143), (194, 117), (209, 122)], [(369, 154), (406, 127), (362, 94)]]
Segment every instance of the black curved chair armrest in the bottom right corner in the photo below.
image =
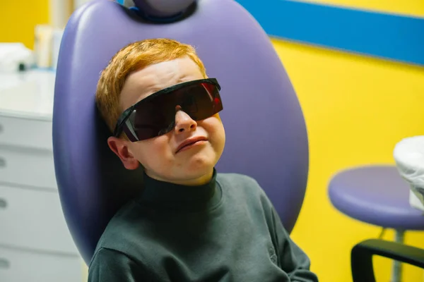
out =
[(370, 239), (358, 243), (351, 252), (354, 282), (375, 282), (372, 256), (379, 255), (424, 269), (424, 250), (401, 243)]

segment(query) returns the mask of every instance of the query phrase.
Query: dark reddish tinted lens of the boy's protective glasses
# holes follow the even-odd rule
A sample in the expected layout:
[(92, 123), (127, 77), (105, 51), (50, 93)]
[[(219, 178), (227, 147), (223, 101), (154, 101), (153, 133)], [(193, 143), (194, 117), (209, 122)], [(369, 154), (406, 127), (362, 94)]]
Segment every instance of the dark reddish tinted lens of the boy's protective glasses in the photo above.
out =
[(176, 106), (181, 106), (195, 121), (223, 109), (216, 85), (209, 82), (188, 85), (137, 105), (125, 127), (126, 135), (134, 142), (170, 132), (174, 128)]

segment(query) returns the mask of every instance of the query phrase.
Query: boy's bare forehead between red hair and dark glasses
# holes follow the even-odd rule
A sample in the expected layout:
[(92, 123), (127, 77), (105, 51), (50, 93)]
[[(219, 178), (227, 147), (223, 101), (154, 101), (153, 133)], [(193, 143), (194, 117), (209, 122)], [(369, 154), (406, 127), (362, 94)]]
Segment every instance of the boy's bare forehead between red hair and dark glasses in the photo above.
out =
[(201, 78), (203, 75), (199, 66), (189, 57), (155, 63), (131, 73), (126, 78), (120, 96), (120, 104), (122, 109), (127, 109), (154, 92), (181, 82)]

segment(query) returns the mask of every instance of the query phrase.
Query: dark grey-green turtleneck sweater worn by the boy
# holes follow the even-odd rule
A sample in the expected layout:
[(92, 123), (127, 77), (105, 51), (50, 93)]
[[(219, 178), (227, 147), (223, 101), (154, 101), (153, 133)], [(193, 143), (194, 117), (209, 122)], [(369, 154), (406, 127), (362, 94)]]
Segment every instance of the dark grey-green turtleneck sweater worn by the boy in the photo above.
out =
[(90, 263), (89, 282), (318, 281), (258, 183), (213, 173), (189, 187), (145, 175)]

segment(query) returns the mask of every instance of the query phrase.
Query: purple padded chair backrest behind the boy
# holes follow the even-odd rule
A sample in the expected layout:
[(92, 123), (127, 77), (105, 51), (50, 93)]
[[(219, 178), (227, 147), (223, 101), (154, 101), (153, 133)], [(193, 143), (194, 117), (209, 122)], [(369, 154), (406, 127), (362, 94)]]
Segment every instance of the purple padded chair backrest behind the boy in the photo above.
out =
[[(141, 39), (168, 37), (196, 47), (208, 75), (222, 86), (226, 144), (218, 173), (255, 178), (288, 232), (300, 212), (308, 173), (307, 131), (269, 37), (236, 1), (199, 0), (184, 18), (172, 21), (166, 8), (175, 1), (151, 7), (158, 12), (151, 16), (160, 17), (162, 8), (170, 23), (152, 23), (116, 2), (100, 0), (79, 8), (66, 25), (54, 90), (54, 165), (61, 206), (86, 262), (108, 221), (143, 185), (141, 171), (127, 171), (107, 147), (110, 131), (95, 107), (100, 71), (119, 49)], [(136, 1), (140, 6), (148, 2), (153, 3)], [(181, 5), (174, 9), (187, 7), (187, 0), (177, 2)]]

